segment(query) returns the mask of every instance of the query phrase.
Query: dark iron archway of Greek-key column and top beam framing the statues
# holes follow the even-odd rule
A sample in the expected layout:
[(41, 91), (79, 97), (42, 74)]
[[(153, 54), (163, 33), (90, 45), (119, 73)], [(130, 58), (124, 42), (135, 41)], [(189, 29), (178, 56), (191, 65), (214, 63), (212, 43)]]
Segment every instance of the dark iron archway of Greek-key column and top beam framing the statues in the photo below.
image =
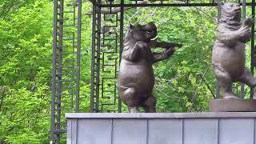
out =
[[(122, 52), (122, 40), (123, 40), (123, 14), (124, 10), (131, 7), (149, 7), (149, 6), (218, 6), (218, 16), (220, 16), (220, 7), (219, 3), (223, 2), (221, 0), (208, 0), (208, 1), (200, 1), (200, 0), (186, 0), (186, 1), (165, 1), (165, 0), (155, 0), (155, 1), (143, 1), (143, 0), (119, 0), (119, 1), (111, 1), (111, 0), (96, 0), (93, 2), (93, 30), (92, 30), (92, 62), (91, 62), (91, 94), (90, 94), (90, 112), (121, 112), (122, 105), (120, 99), (117, 101), (118, 93), (116, 90), (116, 86), (111, 90), (110, 87), (107, 87), (108, 90), (105, 90), (106, 82), (104, 81), (106, 76), (106, 71), (104, 68), (106, 66), (115, 66), (114, 72), (111, 72), (111, 76), (107, 78), (116, 79), (116, 74), (118, 73), (118, 66), (113, 63), (106, 65), (106, 53), (108, 51), (104, 50), (114, 50), (110, 52), (110, 54), (117, 55), (119, 52)], [(231, 0), (230, 2), (238, 2), (242, 6), (242, 18), (246, 18), (246, 7), (251, 7), (251, 15), (254, 18), (255, 16), (255, 1), (254, 0)], [(106, 17), (114, 17), (114, 20), (106, 19)], [(110, 23), (107, 21), (111, 21), (114, 23), (114, 26), (110, 26)], [(111, 30), (110, 30), (111, 28)], [(119, 29), (118, 29), (119, 28)], [(252, 26), (252, 37), (251, 37), (251, 71), (254, 73), (255, 66), (255, 58), (254, 58), (254, 26)], [(106, 31), (107, 30), (107, 31)], [(114, 31), (111, 32), (111, 31)], [(110, 36), (111, 34), (115, 34), (114, 38), (106, 38), (106, 36)], [(118, 42), (117, 42), (118, 40)], [(107, 42), (112, 44), (106, 44)], [(107, 47), (107, 49), (106, 49)], [(101, 70), (102, 68), (102, 70)], [(108, 71), (110, 73), (110, 71)], [(103, 79), (103, 80), (102, 80)], [(244, 85), (241, 86), (241, 97), (244, 97)], [(109, 93), (110, 94), (109, 94)], [(108, 93), (108, 94), (106, 94)], [(111, 95), (112, 97), (105, 96)], [(218, 88), (217, 88), (217, 98), (219, 97)], [(254, 90), (250, 90), (250, 98), (254, 95)], [(112, 98), (112, 100), (110, 100)], [(118, 103), (117, 103), (118, 102)], [(118, 107), (113, 107), (118, 106)], [(103, 108), (104, 107), (104, 108)], [(118, 110), (117, 110), (118, 109)]]

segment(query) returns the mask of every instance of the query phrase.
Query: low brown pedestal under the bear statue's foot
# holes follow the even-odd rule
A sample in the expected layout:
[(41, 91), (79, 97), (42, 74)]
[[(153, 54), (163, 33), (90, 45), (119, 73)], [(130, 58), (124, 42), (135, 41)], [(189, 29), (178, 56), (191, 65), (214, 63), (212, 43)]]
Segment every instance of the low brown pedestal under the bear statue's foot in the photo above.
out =
[(256, 112), (256, 99), (213, 99), (210, 112)]

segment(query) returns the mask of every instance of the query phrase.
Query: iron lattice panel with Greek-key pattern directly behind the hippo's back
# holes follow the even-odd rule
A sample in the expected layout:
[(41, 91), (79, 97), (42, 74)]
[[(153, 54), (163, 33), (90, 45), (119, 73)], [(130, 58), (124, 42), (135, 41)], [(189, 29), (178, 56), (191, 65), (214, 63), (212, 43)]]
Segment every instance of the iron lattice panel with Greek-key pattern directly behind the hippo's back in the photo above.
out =
[(90, 111), (121, 112), (116, 80), (123, 18), (120, 13), (102, 14), (101, 6), (94, 5), (94, 10)]

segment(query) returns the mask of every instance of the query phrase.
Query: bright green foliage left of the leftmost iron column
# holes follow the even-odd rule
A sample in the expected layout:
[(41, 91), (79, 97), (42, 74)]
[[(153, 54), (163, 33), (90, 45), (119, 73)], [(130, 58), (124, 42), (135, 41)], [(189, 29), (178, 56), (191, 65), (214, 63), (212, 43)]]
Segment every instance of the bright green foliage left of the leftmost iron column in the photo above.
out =
[(27, 1), (14, 11), (0, 21), (0, 141), (47, 143), (52, 4)]

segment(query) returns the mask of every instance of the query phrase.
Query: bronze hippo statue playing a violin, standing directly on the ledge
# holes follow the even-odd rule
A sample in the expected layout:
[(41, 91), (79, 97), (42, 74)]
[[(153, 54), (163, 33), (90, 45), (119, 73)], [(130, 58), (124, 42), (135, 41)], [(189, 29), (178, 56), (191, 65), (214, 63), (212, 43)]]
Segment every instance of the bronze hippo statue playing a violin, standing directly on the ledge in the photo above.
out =
[[(174, 54), (174, 46), (182, 46), (177, 43), (151, 40), (157, 34), (157, 27), (153, 22), (144, 26), (130, 25), (126, 32), (118, 74), (118, 91), (130, 113), (139, 112), (138, 106), (142, 106), (148, 113), (156, 112), (157, 100), (153, 95), (152, 65)], [(166, 50), (162, 53), (153, 53), (150, 50), (153, 47), (163, 47)]]

